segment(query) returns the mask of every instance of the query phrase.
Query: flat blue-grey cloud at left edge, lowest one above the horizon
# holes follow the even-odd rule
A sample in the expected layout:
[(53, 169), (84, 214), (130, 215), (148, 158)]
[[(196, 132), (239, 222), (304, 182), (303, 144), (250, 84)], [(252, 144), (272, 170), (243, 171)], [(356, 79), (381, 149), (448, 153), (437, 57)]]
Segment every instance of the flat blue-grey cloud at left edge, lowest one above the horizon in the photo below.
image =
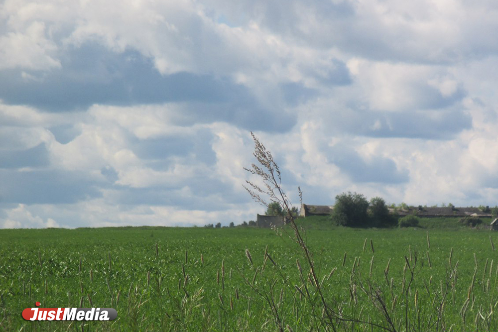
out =
[(0, 202), (22, 204), (75, 203), (100, 197), (105, 184), (81, 172), (0, 170)]

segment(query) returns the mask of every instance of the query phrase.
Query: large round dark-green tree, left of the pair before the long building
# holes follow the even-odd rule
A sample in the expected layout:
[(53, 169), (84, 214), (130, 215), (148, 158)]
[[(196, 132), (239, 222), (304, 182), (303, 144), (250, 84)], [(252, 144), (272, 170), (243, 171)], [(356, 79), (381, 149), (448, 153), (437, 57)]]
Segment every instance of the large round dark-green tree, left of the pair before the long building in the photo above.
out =
[(359, 227), (369, 224), (369, 201), (362, 194), (342, 193), (336, 196), (332, 220), (339, 225)]

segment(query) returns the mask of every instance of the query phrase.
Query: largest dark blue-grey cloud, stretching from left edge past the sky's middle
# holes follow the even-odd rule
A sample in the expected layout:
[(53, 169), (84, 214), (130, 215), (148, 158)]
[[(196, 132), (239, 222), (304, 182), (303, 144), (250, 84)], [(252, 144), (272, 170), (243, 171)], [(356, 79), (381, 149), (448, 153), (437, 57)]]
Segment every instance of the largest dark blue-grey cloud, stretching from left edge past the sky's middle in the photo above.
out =
[[(0, 99), (6, 104), (29, 105), (44, 111), (85, 110), (93, 104), (137, 105), (184, 103), (190, 124), (227, 121), (252, 130), (286, 131), (295, 117), (280, 121), (279, 110), (268, 110), (249, 89), (231, 79), (180, 72), (162, 76), (151, 59), (136, 51), (115, 53), (97, 44), (84, 44), (61, 57), (62, 68), (31, 73), (3, 70)], [(74, 130), (53, 128), (66, 142)]]

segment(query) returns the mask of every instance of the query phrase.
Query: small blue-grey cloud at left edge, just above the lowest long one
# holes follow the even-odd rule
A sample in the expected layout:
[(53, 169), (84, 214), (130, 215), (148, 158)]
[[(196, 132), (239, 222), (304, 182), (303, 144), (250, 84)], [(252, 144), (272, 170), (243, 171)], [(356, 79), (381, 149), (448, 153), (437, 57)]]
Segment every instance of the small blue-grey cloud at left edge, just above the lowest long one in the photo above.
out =
[(44, 143), (25, 150), (0, 150), (0, 168), (47, 166), (49, 159)]

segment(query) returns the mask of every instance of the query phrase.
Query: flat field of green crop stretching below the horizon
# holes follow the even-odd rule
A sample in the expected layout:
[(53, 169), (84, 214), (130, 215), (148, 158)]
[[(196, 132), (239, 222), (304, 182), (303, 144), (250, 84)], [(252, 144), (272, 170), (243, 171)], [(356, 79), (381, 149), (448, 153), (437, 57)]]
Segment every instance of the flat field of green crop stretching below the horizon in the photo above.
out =
[[(0, 331), (498, 331), (498, 234), (318, 228), (305, 238), (332, 322), (285, 231), (0, 230)], [(36, 301), (118, 319), (24, 321)]]

